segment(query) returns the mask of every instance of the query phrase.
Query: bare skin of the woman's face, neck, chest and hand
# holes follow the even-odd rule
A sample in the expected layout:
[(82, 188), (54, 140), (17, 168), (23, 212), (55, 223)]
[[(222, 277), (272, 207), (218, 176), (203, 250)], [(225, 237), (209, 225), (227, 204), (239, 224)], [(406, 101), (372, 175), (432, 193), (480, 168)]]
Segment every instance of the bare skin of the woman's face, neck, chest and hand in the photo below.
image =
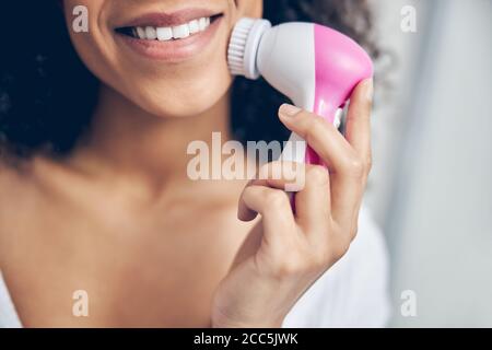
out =
[[(90, 33), (72, 42), (103, 85), (90, 138), (70, 158), (0, 167), (9, 199), (0, 201), (0, 269), (23, 325), (280, 326), (355, 237), (371, 168), (372, 81), (353, 92), (345, 137), (316, 115), (280, 108), (329, 165), (306, 167), (293, 212), (286, 179), (186, 176), (190, 141), (210, 142), (216, 131), (231, 139), (227, 39), (237, 19), (261, 16), (262, 1), (63, 4), (68, 24), (74, 5), (90, 9)], [(207, 50), (165, 65), (121, 55), (113, 23), (189, 7), (224, 12)], [(90, 317), (72, 315), (80, 289)]]

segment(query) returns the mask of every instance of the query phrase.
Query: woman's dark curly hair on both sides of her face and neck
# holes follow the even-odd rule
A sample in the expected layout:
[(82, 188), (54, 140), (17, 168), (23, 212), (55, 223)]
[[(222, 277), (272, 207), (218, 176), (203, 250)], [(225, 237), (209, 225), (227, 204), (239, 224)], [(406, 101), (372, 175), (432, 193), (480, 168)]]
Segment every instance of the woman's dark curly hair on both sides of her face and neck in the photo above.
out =
[[(325, 24), (354, 38), (373, 58), (379, 54), (365, 0), (265, 0), (265, 18), (273, 24)], [(15, 158), (39, 151), (69, 154), (89, 131), (98, 81), (72, 47), (59, 2), (4, 1), (0, 27), (4, 47), (0, 55), (0, 153)], [(285, 101), (265, 80), (236, 79), (231, 113), (235, 137), (242, 141), (285, 139), (288, 131), (273, 117)]]

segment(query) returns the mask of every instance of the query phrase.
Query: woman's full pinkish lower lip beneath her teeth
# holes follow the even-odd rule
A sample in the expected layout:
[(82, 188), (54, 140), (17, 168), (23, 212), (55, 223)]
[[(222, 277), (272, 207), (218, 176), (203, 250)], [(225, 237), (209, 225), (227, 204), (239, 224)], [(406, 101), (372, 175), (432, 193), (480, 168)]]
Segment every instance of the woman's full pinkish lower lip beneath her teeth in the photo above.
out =
[(222, 16), (213, 21), (203, 31), (178, 40), (144, 40), (122, 34), (116, 34), (118, 39), (130, 47), (132, 51), (148, 59), (161, 61), (181, 61), (202, 52), (210, 44), (222, 22)]

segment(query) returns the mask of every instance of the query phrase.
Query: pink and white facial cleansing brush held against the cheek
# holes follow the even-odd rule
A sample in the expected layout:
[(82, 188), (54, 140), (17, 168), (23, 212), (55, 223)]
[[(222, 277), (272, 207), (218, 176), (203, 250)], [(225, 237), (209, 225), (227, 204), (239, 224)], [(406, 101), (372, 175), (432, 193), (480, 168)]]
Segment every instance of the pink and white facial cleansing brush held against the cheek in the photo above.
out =
[[(337, 31), (300, 22), (272, 27), (267, 20), (246, 18), (233, 31), (229, 66), (234, 75), (253, 80), (262, 75), (297, 107), (332, 124), (355, 85), (373, 75), (364, 49)], [(291, 136), (282, 160), (323, 164), (300, 141), (297, 135)]]

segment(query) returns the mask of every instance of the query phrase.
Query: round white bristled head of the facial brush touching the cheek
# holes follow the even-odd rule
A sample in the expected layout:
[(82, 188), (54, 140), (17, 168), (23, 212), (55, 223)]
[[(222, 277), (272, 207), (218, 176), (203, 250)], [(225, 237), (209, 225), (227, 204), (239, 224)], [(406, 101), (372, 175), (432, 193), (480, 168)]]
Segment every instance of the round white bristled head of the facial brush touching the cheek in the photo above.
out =
[(261, 37), (271, 23), (261, 19), (241, 19), (231, 36), (227, 62), (233, 75), (258, 79), (260, 72), (256, 62)]

